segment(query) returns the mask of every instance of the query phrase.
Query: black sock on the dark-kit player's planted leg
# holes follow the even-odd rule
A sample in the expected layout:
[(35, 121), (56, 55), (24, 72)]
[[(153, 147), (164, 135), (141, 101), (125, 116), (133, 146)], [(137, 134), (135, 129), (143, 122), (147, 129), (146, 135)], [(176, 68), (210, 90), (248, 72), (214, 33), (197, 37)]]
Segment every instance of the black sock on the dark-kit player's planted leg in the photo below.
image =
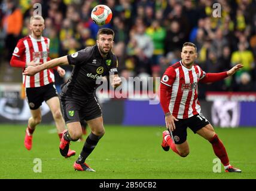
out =
[(86, 158), (92, 153), (93, 149), (95, 149), (96, 144), (99, 142), (101, 137), (90, 133), (90, 135), (86, 138), (86, 142), (84, 143), (83, 150), (81, 151), (77, 163), (83, 164), (86, 161)]

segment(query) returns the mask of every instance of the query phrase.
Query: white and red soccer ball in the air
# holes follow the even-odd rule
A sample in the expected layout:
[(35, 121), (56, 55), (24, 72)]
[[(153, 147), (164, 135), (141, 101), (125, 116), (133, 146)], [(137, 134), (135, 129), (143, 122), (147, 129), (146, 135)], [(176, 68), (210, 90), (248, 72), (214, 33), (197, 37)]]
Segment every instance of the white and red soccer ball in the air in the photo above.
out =
[(112, 19), (112, 11), (106, 5), (97, 5), (92, 10), (91, 18), (97, 25), (108, 24)]

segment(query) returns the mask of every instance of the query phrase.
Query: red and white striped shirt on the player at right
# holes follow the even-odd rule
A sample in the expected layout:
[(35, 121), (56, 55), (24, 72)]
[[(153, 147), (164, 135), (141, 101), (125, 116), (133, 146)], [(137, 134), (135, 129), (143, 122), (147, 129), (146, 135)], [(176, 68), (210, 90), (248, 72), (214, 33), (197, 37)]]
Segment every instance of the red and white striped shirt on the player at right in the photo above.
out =
[(206, 73), (199, 66), (193, 65), (188, 69), (181, 61), (166, 69), (161, 83), (169, 87), (164, 95), (169, 97), (169, 103), (163, 104), (168, 104), (169, 112), (175, 118), (185, 119), (200, 113), (197, 84), (205, 75)]

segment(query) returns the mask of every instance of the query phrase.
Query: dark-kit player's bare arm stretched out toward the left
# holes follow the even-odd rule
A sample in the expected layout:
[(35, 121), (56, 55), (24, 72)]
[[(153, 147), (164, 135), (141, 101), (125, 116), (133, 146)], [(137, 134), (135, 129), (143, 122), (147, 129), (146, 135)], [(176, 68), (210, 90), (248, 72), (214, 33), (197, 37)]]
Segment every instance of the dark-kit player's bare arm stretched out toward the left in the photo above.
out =
[(36, 73), (42, 71), (42, 70), (45, 70), (45, 69), (48, 69), (48, 68), (51, 68), (51, 67), (56, 67), (56, 66), (59, 66), (61, 64), (68, 64), (68, 57), (67, 56), (63, 56), (63, 57), (60, 57), (60, 58), (54, 58), (53, 60), (50, 60), (50, 61), (47, 61), (39, 66), (28, 66), (24, 72), (22, 73), (23, 75), (26, 75), (26, 76), (33, 76), (35, 75)]

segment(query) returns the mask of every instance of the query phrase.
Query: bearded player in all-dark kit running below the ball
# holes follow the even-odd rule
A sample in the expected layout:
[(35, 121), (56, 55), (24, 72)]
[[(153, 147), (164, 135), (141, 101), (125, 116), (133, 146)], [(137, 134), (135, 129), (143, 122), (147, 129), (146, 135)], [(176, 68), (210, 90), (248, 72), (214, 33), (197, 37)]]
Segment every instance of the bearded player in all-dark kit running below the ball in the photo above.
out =
[(74, 162), (75, 170), (95, 171), (85, 163), (85, 160), (105, 134), (102, 112), (93, 94), (97, 87), (96, 80), (109, 75), (110, 72), (111, 85), (117, 87), (121, 84), (117, 72), (117, 57), (111, 52), (113, 39), (114, 31), (112, 29), (100, 29), (97, 33), (95, 46), (68, 56), (55, 58), (36, 67), (28, 66), (23, 72), (23, 75), (31, 76), (60, 64), (75, 65), (71, 78), (62, 85), (62, 93), (60, 94), (64, 118), (68, 126), (68, 130), (63, 133), (60, 143), (62, 156), (67, 155), (70, 141), (77, 141), (81, 137), (81, 119), (85, 119), (91, 128), (91, 133), (84, 143), (80, 156)]

